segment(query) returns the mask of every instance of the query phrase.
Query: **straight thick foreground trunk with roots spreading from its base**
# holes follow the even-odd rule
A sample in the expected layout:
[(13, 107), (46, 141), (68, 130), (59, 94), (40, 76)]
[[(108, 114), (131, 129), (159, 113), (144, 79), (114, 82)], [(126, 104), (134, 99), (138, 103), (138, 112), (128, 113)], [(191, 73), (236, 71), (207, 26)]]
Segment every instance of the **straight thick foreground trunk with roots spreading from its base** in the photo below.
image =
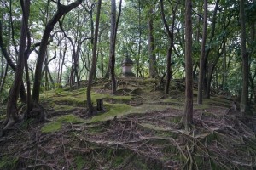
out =
[(189, 130), (193, 123), (193, 65), (192, 65), (192, 2), (186, 0), (186, 18), (185, 18), (185, 72), (186, 72), (186, 92), (185, 92), (185, 108), (183, 112), (183, 126)]

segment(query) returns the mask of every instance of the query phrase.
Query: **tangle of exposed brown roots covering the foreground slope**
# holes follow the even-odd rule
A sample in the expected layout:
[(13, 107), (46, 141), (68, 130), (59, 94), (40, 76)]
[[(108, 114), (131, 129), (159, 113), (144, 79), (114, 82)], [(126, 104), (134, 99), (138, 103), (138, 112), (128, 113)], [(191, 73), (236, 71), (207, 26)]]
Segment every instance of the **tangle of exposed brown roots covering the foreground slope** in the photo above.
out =
[(191, 132), (178, 129), (177, 110), (74, 124), (58, 133), (20, 130), (0, 139), (0, 156), (19, 157), (20, 168), (255, 168), (255, 132), (247, 126), (253, 117), (224, 113), (196, 111)]

